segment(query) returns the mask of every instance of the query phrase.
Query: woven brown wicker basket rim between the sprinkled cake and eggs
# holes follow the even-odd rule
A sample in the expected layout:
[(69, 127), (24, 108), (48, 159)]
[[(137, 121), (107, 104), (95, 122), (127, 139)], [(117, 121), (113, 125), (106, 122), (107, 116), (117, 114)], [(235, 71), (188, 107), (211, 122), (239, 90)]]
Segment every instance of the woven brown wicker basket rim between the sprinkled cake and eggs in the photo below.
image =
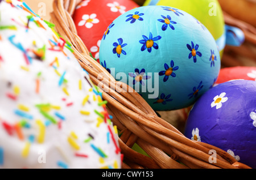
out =
[[(102, 91), (102, 98), (108, 101), (108, 112), (119, 130), (118, 142), (124, 157), (123, 169), (250, 168), (217, 147), (186, 138), (177, 128), (160, 118), (137, 92), (132, 92), (133, 88), (116, 82), (100, 63), (90, 57), (88, 49), (77, 36), (72, 20), (79, 2), (81, 0), (53, 1), (51, 20), (56, 31), (72, 43), (75, 57), (89, 73), (92, 82), (95, 85), (104, 82), (102, 89), (108, 90)], [(102, 75), (101, 81), (98, 80), (98, 75)], [(126, 88), (130, 90), (125, 92)], [(148, 156), (134, 151), (131, 148), (134, 143)], [(209, 162), (209, 158), (212, 158), (209, 155), (210, 149), (217, 152), (216, 163)]]

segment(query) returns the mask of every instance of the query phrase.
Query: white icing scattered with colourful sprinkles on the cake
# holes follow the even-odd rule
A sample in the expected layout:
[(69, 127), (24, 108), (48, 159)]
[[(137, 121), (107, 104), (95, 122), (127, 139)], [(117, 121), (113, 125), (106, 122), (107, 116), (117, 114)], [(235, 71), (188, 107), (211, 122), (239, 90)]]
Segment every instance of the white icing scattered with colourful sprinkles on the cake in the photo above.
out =
[[(100, 118), (94, 112), (94, 110), (105, 111), (101, 105), (98, 105), (98, 102), (102, 101), (101, 98), (98, 100), (100, 95), (95, 93), (94, 88), (94, 91), (91, 91), (90, 84), (84, 78), (86, 76), (89, 79), (87, 73), (82, 70), (67, 48), (63, 49), (67, 55), (49, 50), (52, 47), (48, 40), (55, 41), (53, 37), (58, 39), (57, 35), (43, 20), (35, 16), (34, 19), (39, 20), (47, 31), (38, 27), (32, 20), (27, 29), (27, 16), (31, 14), (18, 7), (18, 5), (23, 5), (22, 2), (12, 1), (12, 3), (14, 6), (6, 1), (0, 3), (0, 26), (14, 25), (16, 27), (16, 30), (0, 29), (0, 55), (2, 57), (2, 60), (0, 59), (0, 168), (120, 168), (121, 153), (117, 151), (119, 150), (118, 135), (110, 121), (105, 122), (104, 118)], [(15, 35), (14, 43), (20, 43), (24, 49), (28, 50), (28, 56), (31, 57), (29, 65), (25, 61), (24, 53), (9, 40), (9, 37), (13, 35)], [(33, 45), (33, 41), (36, 45)], [(63, 43), (61, 39), (57, 42)], [(45, 59), (38, 60), (31, 49), (36, 50), (44, 45), (46, 45)], [(59, 49), (58, 46), (55, 46), (55, 49)], [(53, 64), (55, 67), (50, 66), (56, 57), (59, 66), (56, 62)], [(59, 85), (60, 76), (57, 75), (55, 68), (60, 75), (65, 72), (64, 79), (67, 82), (64, 81)], [(40, 85), (39, 93), (37, 93), (35, 89), (39, 72)], [(79, 88), (80, 80), (82, 89)], [(63, 87), (67, 88), (69, 95), (63, 91)], [(15, 92), (18, 94), (15, 95)], [(7, 93), (15, 95), (16, 99), (8, 97)], [(86, 95), (89, 95), (89, 101), (82, 105)], [(51, 108), (44, 109), (44, 112), (51, 115), (57, 123), (49, 121), (49, 118), (40, 113), (40, 109), (36, 107), (39, 104), (52, 105)], [(23, 105), (23, 108), (19, 105)], [(28, 108), (27, 112), (26, 108)], [(20, 117), (15, 114), (15, 110), (30, 116)], [(90, 114), (83, 115), (80, 110), (90, 112)], [(65, 119), (61, 119), (55, 113), (59, 113)], [(101, 123), (98, 123), (98, 118), (101, 119)], [(40, 126), (37, 120), (40, 120), (45, 127), (43, 143), (38, 141)], [(22, 122), (27, 122), (26, 126), (29, 125), (29, 127), (21, 126)], [(60, 126), (59, 122), (61, 122)], [(8, 134), (8, 128), (4, 127), (4, 123), (11, 126), (12, 135)], [(20, 126), (23, 138), (19, 138), (18, 131), (14, 130), (15, 124)], [(77, 137), (73, 137), (72, 132), (75, 132)], [(85, 142), (89, 134), (94, 139)], [(30, 142), (31, 136), (34, 137), (32, 142)], [(68, 142), (69, 137), (79, 145), (79, 150)], [(30, 142), (30, 147), (27, 156), (24, 157), (22, 152), (28, 142)], [(93, 149), (93, 145), (102, 149), (107, 157), (101, 158)], [(76, 153), (88, 157), (76, 156)], [(65, 166), (61, 166), (60, 162)]]

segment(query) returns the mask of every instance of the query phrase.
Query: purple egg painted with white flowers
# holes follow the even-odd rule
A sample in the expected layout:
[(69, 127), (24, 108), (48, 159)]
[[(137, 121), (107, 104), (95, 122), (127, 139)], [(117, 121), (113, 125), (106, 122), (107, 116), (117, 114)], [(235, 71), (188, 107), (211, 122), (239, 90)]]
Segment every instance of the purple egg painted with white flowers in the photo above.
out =
[(256, 82), (232, 80), (205, 92), (193, 105), (184, 134), (256, 168)]

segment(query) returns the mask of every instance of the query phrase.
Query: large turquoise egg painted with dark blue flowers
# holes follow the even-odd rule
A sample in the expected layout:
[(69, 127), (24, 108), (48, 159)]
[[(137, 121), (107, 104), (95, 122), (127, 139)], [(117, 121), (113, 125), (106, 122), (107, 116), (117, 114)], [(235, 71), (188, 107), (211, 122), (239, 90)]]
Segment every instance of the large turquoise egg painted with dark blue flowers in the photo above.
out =
[(106, 30), (100, 62), (154, 110), (181, 109), (207, 91), (220, 71), (220, 54), (207, 28), (182, 10), (142, 6)]

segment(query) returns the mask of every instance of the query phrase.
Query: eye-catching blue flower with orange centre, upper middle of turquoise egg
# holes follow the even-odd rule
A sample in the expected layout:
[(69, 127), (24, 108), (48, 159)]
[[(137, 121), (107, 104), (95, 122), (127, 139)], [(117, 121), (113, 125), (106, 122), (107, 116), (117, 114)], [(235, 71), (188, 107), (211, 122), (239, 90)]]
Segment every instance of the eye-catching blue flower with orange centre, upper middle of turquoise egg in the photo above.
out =
[(149, 37), (142, 35), (143, 40), (140, 40), (139, 43), (143, 44), (141, 47), (141, 51), (143, 52), (144, 50), (147, 49), (148, 53), (151, 53), (152, 47), (154, 49), (158, 49), (158, 44), (156, 44), (155, 41), (160, 40), (162, 37), (161, 36), (156, 36), (153, 38), (152, 33), (150, 32)]

